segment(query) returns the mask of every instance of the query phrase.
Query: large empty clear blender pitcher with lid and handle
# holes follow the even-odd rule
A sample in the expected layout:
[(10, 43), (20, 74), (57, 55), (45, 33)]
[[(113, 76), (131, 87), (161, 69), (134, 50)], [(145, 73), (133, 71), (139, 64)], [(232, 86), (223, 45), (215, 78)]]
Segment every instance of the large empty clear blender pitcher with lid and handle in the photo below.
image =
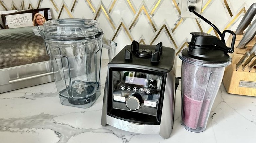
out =
[(111, 60), (116, 43), (103, 39), (99, 23), (91, 19), (49, 20), (34, 33), (45, 40), (61, 104), (91, 107), (101, 94), (102, 48)]

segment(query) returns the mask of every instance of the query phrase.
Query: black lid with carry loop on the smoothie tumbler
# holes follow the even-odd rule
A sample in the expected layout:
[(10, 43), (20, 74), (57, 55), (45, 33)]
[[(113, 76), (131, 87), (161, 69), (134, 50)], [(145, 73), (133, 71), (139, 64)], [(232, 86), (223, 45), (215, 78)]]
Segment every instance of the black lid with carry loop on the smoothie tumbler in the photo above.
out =
[(185, 58), (207, 63), (230, 61), (228, 53), (233, 53), (233, 45), (229, 48), (224, 41), (208, 33), (193, 32), (191, 34), (188, 48), (181, 51)]

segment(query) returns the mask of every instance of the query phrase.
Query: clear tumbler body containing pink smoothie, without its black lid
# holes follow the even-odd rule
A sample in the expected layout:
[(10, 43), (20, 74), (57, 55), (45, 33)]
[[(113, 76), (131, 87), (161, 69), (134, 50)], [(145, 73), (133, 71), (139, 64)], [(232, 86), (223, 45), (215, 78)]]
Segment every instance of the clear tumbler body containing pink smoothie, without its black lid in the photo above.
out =
[(231, 63), (205, 63), (179, 54), (181, 67), (181, 125), (192, 132), (206, 129), (208, 117), (224, 75)]

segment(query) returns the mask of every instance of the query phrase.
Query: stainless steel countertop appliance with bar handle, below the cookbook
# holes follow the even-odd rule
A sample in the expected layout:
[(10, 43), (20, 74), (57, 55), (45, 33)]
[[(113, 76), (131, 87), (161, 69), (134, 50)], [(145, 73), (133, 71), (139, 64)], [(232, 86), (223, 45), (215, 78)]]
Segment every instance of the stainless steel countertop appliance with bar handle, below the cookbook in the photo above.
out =
[(32, 27), (0, 30), (0, 93), (51, 81), (45, 42)]

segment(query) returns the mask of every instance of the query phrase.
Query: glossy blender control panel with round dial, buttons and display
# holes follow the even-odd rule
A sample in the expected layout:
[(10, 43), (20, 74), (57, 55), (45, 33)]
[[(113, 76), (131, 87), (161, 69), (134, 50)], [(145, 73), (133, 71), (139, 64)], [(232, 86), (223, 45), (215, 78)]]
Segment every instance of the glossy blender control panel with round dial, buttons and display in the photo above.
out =
[(161, 76), (112, 71), (113, 108), (156, 116), (161, 84)]

